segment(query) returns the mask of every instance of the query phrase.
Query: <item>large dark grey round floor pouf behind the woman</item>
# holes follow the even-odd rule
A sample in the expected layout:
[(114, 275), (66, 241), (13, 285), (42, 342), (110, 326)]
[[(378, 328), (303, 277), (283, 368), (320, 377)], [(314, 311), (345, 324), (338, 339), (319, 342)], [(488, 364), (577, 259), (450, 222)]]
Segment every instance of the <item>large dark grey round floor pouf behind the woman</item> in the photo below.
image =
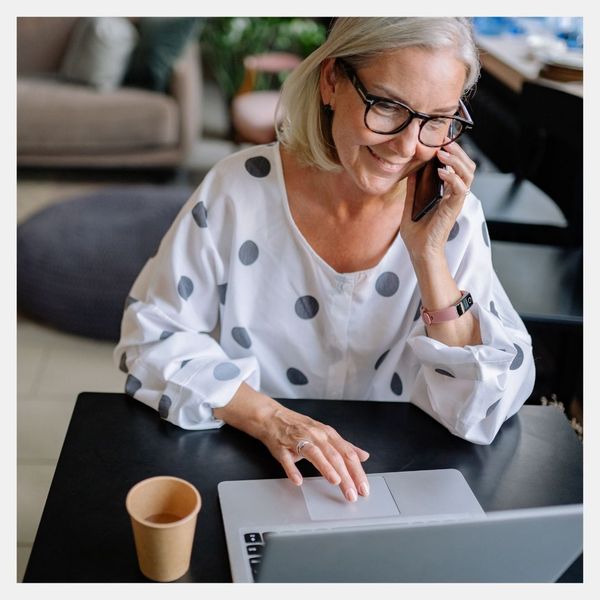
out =
[(117, 341), (129, 291), (190, 197), (187, 186), (111, 187), (17, 228), (17, 306), (63, 331)]

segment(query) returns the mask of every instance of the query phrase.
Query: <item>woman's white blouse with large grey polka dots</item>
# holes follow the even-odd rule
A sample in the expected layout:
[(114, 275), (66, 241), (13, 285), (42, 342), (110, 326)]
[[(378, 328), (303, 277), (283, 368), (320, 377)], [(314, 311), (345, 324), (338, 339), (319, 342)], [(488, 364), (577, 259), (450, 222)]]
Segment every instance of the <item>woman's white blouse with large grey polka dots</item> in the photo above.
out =
[(491, 261), (470, 194), (446, 255), (482, 344), (427, 337), (400, 235), (371, 269), (338, 273), (292, 218), (278, 143), (220, 161), (135, 281), (115, 364), (126, 392), (185, 429), (223, 424), (242, 382), (273, 398), (411, 401), (488, 444), (533, 389), (531, 338)]

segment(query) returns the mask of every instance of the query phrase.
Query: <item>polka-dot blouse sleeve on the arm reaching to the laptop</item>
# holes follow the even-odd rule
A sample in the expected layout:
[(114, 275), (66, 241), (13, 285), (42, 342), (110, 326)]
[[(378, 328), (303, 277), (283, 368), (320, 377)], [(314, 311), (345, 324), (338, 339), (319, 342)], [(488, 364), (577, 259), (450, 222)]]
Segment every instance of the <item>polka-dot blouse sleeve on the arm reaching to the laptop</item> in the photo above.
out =
[(242, 382), (260, 385), (252, 355), (230, 357), (211, 332), (227, 291), (232, 205), (209, 173), (130, 292), (113, 359), (126, 392), (184, 429), (223, 425), (213, 409)]

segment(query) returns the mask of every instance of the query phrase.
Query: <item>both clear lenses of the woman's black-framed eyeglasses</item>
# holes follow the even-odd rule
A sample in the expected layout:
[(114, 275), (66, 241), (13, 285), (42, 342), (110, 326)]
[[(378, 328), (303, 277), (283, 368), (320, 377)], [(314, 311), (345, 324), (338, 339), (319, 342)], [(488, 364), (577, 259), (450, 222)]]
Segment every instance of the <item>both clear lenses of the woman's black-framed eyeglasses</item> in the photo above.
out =
[[(366, 125), (377, 133), (391, 133), (402, 127), (410, 113), (401, 106), (375, 102), (366, 115)], [(438, 117), (426, 121), (419, 130), (419, 141), (426, 146), (442, 146), (460, 136), (463, 124), (452, 117)]]

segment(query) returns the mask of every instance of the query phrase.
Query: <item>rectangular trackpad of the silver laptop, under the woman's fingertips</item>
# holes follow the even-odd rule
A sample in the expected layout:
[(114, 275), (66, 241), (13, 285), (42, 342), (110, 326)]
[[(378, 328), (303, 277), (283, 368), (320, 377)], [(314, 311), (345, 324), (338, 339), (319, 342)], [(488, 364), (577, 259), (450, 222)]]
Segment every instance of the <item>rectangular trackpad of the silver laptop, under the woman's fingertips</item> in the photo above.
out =
[(398, 516), (400, 512), (383, 477), (368, 479), (369, 495), (366, 498), (359, 496), (356, 502), (348, 502), (337, 485), (332, 485), (323, 477), (306, 478), (301, 489), (310, 518), (313, 521), (328, 521)]

